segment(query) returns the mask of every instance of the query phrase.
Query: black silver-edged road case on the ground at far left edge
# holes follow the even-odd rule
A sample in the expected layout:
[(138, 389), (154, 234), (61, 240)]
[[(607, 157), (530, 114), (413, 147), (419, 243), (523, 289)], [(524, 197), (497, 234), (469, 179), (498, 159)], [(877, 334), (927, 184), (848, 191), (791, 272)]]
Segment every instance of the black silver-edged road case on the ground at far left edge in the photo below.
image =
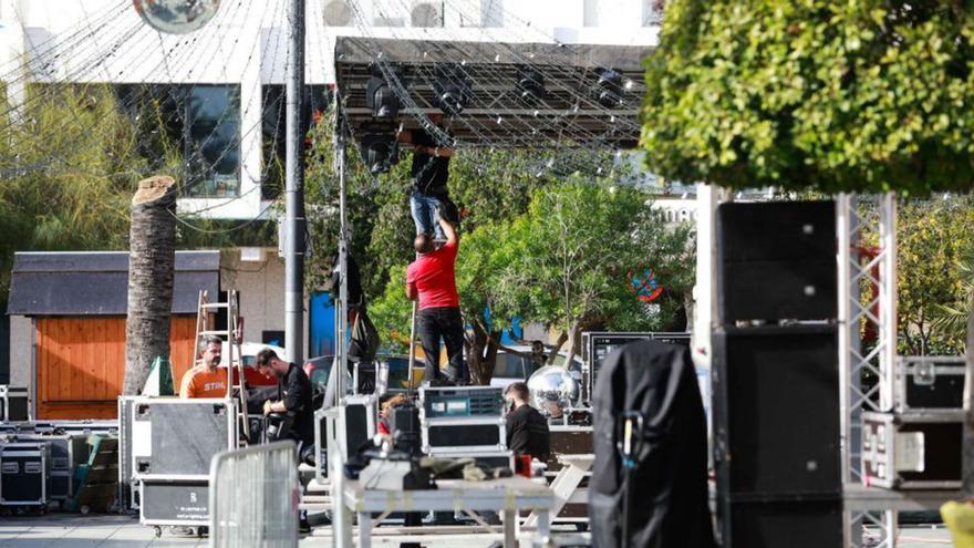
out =
[(0, 506), (45, 507), (50, 471), (49, 443), (0, 444)]

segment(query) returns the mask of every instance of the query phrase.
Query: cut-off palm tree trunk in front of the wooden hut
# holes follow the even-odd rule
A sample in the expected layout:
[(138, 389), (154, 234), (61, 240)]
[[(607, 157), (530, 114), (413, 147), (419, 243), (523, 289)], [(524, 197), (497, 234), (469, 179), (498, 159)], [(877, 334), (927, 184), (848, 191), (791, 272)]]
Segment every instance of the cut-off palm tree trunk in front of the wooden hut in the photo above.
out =
[(176, 182), (149, 177), (132, 198), (128, 236), (128, 318), (123, 394), (138, 394), (152, 362), (169, 354), (176, 268)]

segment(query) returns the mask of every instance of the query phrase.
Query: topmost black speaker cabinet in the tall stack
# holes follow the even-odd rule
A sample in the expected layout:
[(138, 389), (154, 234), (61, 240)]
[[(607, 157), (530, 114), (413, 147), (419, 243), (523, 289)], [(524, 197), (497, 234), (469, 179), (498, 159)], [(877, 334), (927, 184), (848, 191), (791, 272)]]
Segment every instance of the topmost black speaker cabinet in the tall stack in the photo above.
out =
[(722, 204), (716, 228), (724, 323), (836, 318), (833, 201)]

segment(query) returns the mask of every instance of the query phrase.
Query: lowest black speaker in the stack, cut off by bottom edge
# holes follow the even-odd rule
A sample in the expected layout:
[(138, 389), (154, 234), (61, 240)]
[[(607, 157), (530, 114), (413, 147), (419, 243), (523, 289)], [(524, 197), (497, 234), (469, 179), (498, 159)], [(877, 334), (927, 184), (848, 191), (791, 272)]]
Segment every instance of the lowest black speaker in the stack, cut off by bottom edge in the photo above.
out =
[(723, 548), (841, 548), (842, 500), (723, 502)]

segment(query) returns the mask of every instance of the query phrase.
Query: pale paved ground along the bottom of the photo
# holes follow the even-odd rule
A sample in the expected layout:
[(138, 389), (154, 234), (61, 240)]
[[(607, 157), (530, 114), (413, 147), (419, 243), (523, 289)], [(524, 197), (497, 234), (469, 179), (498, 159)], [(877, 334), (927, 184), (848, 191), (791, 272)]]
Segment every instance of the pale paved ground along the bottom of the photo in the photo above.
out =
[[(428, 548), (488, 548), (500, 535), (464, 535), (423, 539)], [(400, 539), (375, 538), (374, 546), (397, 546)], [(85, 516), (51, 514), (46, 516), (0, 518), (0, 547), (79, 548), (79, 547), (190, 547), (207, 546), (206, 539), (182, 538), (164, 534), (155, 538), (153, 529), (125, 516)], [(315, 529), (301, 539), (302, 547), (331, 546), (330, 531)], [(867, 544), (867, 546), (869, 546)], [(900, 530), (899, 548), (941, 548), (952, 546), (950, 535), (940, 527), (911, 527)]]

